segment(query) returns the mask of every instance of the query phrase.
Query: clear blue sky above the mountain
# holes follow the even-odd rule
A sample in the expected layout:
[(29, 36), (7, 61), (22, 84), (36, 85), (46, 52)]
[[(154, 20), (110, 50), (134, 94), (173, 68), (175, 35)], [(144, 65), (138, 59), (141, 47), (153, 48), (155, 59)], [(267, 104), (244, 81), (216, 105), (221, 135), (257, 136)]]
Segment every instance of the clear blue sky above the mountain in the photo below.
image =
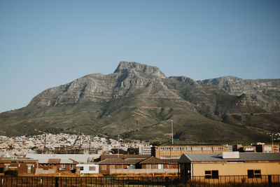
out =
[(0, 112), (120, 61), (195, 80), (280, 78), (280, 1), (0, 1)]

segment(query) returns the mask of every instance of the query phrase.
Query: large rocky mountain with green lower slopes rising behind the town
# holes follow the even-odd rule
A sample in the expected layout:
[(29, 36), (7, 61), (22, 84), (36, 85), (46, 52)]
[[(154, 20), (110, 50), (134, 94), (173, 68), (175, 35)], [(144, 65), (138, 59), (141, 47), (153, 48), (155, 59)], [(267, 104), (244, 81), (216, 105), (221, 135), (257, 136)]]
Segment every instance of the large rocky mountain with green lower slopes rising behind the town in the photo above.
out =
[(269, 141), (266, 133), (280, 127), (279, 79), (230, 78), (194, 81), (120, 62), (113, 74), (83, 76), (0, 113), (0, 134), (84, 132), (168, 142), (173, 120), (174, 139), (182, 143)]

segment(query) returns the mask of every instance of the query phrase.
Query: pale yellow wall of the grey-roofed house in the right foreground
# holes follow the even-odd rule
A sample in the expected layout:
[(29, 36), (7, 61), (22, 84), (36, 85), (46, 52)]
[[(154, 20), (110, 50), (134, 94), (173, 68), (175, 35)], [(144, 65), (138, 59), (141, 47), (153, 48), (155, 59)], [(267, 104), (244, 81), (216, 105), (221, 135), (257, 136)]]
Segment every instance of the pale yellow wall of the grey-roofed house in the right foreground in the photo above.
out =
[(280, 174), (280, 162), (219, 162), (193, 163), (193, 176), (204, 176), (206, 170), (218, 170), (218, 175), (247, 175), (248, 169), (260, 169), (262, 175)]

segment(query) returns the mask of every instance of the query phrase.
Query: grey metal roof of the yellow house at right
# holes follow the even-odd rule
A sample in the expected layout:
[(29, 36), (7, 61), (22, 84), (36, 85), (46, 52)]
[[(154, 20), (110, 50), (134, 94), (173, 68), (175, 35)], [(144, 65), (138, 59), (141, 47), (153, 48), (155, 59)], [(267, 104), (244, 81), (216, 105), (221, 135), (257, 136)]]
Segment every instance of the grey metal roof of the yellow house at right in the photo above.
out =
[(280, 161), (280, 153), (240, 153), (240, 158), (223, 159), (222, 153), (183, 153), (179, 163), (218, 161)]

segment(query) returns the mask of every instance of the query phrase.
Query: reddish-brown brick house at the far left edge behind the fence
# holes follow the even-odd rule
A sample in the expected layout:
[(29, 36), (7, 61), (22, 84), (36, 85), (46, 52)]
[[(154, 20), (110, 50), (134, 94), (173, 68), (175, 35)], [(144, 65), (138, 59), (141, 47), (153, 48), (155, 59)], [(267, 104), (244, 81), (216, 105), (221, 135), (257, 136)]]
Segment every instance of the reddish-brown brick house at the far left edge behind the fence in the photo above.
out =
[(0, 173), (17, 170), (18, 174), (35, 174), (38, 160), (31, 158), (1, 158)]

